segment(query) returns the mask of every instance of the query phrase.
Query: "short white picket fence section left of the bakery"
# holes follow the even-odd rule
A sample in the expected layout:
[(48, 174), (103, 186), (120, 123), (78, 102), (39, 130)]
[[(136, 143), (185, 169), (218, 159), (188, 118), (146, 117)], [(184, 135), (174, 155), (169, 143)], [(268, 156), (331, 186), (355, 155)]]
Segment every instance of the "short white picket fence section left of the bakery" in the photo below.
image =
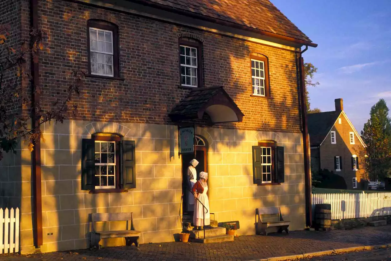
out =
[(19, 252), (19, 208), (0, 208), (0, 254)]

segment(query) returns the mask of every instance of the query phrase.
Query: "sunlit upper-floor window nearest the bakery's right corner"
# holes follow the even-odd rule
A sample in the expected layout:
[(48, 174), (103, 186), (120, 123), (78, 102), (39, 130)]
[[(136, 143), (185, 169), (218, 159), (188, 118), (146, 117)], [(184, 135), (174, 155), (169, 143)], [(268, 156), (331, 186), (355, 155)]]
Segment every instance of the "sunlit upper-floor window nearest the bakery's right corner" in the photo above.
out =
[(251, 54), (250, 60), (253, 95), (270, 96), (267, 58), (260, 54)]

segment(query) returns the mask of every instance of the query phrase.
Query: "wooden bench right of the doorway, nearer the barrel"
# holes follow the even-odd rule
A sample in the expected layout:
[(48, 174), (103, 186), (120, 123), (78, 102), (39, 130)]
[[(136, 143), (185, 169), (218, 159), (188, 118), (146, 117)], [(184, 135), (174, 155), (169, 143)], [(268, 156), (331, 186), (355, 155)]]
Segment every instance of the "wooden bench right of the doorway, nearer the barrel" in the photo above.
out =
[[(269, 215), (270, 217), (265, 218), (264, 215)], [(262, 216), (264, 216), (263, 220)], [(267, 228), (269, 227), (278, 227), (278, 233), (282, 233), (282, 231), (285, 230), (285, 232), (289, 234), (289, 223), (289, 221), (283, 220), (280, 208), (255, 208), (255, 226), (256, 234), (258, 235), (264, 232), (267, 236)]]

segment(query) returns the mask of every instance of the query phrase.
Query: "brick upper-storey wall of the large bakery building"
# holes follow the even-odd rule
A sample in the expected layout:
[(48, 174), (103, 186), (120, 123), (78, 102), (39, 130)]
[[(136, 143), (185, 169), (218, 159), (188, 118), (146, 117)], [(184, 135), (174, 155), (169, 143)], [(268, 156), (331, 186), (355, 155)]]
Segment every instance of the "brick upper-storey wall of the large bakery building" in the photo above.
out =
[[(80, 119), (167, 123), (167, 112), (188, 93), (178, 88), (178, 35), (192, 33), (204, 40), (204, 86), (223, 85), (245, 114), (242, 123), (225, 127), (300, 131), (296, 56), (291, 51), (62, 0), (40, 0), (39, 17), (48, 35), (48, 52), (40, 57), (45, 109), (55, 97), (65, 97), (71, 71), (88, 70), (86, 21), (99, 18), (119, 27), (124, 80), (87, 78), (75, 100)], [(253, 52), (269, 57), (274, 99), (250, 97)]]

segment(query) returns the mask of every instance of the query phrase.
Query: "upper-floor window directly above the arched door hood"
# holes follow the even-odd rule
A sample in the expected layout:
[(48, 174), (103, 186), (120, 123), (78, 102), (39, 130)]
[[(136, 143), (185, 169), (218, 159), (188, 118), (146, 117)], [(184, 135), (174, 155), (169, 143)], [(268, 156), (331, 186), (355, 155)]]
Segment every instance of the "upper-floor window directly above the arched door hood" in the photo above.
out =
[(197, 40), (179, 39), (179, 73), (182, 87), (202, 87), (201, 47)]

